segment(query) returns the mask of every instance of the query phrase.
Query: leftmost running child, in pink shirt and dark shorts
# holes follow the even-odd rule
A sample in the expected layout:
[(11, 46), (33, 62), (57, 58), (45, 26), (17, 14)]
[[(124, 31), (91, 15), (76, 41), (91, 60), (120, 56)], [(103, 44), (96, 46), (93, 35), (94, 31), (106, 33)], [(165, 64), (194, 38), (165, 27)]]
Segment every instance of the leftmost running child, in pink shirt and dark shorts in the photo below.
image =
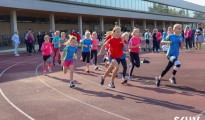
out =
[(52, 43), (50, 42), (50, 38), (48, 35), (44, 37), (45, 42), (42, 44), (41, 50), (43, 54), (43, 72), (46, 75), (46, 62), (48, 62), (48, 71), (52, 72), (51, 70), (51, 54), (52, 54)]

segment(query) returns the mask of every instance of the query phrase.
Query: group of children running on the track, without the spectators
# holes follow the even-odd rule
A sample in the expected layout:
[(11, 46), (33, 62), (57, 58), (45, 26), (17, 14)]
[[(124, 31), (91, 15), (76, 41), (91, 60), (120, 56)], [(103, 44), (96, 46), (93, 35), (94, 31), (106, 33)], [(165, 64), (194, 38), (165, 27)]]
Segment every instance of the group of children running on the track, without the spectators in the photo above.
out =
[[(167, 51), (167, 58), (169, 63), (165, 70), (159, 77), (156, 77), (156, 85), (160, 86), (161, 78), (169, 71), (169, 69), (175, 65), (172, 77), (170, 78), (171, 83), (176, 84), (175, 74), (180, 67), (180, 61), (178, 60), (179, 48), (182, 47), (182, 38), (179, 35), (181, 30), (180, 24), (175, 24), (173, 28), (173, 34), (170, 34), (166, 37), (166, 39), (162, 40), (162, 44), (167, 44), (169, 46), (169, 50)], [(57, 31), (58, 32), (58, 31)], [(70, 87), (75, 87), (75, 83), (73, 80), (73, 70), (74, 70), (74, 60), (77, 60), (77, 50), (78, 46), (77, 38), (75, 36), (69, 36), (69, 39), (65, 39), (65, 33), (61, 33), (61, 37), (59, 37), (59, 33), (56, 32), (56, 38), (51, 42), (49, 42), (49, 36), (46, 35), (44, 37), (45, 42), (42, 44), (42, 53), (43, 53), (43, 70), (46, 75), (46, 63), (48, 63), (48, 71), (51, 72), (51, 54), (54, 52), (54, 56), (56, 56), (56, 48), (60, 48), (61, 54), (59, 59), (59, 64), (63, 66), (63, 72), (66, 74), (68, 69), (70, 70)], [(92, 35), (89, 31), (85, 32), (85, 38), (80, 42), (80, 47), (82, 47), (81, 60), (86, 62), (86, 72), (89, 73), (90, 62), (95, 65), (95, 70), (97, 67), (97, 58), (102, 55), (103, 51), (107, 49), (107, 55), (109, 60), (109, 66), (107, 67), (105, 73), (100, 76), (100, 84), (103, 85), (107, 76), (112, 73), (112, 78), (108, 86), (110, 88), (115, 88), (114, 80), (119, 71), (119, 64), (122, 64), (123, 72), (122, 72), (122, 84), (127, 83), (128, 79), (132, 80), (132, 73), (134, 67), (140, 67), (140, 46), (141, 46), (141, 38), (140, 38), (140, 30), (138, 28), (134, 28), (131, 33), (131, 39), (129, 40), (130, 34), (128, 32), (121, 33), (121, 28), (119, 26), (115, 26), (112, 30), (112, 33), (109, 36), (109, 39), (106, 39), (104, 44), (102, 45), (99, 53), (97, 53), (99, 41), (97, 39), (97, 33), (93, 32)], [(108, 38), (108, 37), (107, 37)], [(57, 44), (58, 43), (58, 44)], [(58, 46), (57, 46), (58, 45)], [(53, 59), (54, 62), (55, 58)], [(129, 61), (129, 77), (128, 79), (125, 77), (127, 73), (127, 62)], [(89, 74), (88, 74), (89, 75)]]

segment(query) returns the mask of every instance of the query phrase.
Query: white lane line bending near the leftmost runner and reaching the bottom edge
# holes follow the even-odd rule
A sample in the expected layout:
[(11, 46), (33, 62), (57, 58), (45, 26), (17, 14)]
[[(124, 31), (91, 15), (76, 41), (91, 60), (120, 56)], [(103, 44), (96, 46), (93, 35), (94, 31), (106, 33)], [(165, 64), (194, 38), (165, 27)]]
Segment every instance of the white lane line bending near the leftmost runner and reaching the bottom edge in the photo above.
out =
[(39, 65), (36, 67), (36, 76), (37, 76), (37, 78), (38, 78), (41, 82), (43, 82), (47, 87), (51, 88), (52, 90), (56, 91), (57, 93), (59, 93), (59, 94), (65, 96), (65, 97), (68, 97), (68, 98), (70, 98), (70, 99), (73, 99), (73, 100), (75, 100), (75, 101), (77, 101), (77, 102), (79, 102), (79, 103), (82, 103), (82, 104), (84, 104), (84, 105), (87, 105), (87, 106), (89, 106), (89, 107), (95, 108), (95, 109), (97, 109), (97, 110), (103, 111), (103, 112), (108, 113), (108, 114), (111, 114), (111, 115), (114, 115), (114, 116), (119, 117), (119, 118), (122, 118), (122, 119), (124, 119), (124, 120), (130, 120), (129, 118), (126, 118), (126, 117), (120, 116), (120, 115), (118, 115), (118, 114), (109, 112), (109, 111), (104, 110), (104, 109), (102, 109), (102, 108), (96, 107), (96, 106), (94, 106), (94, 105), (91, 105), (91, 104), (88, 104), (88, 103), (83, 102), (83, 101), (81, 101), (81, 100), (78, 100), (78, 99), (76, 99), (76, 98), (73, 98), (73, 97), (71, 97), (71, 96), (69, 96), (69, 95), (66, 95), (65, 93), (63, 93), (63, 92), (61, 92), (61, 91), (58, 91), (58, 90), (55, 89), (54, 87), (52, 87), (52, 86), (50, 86), (49, 84), (47, 84), (46, 82), (44, 82), (44, 81), (39, 77), (39, 75), (38, 75), (38, 68), (39, 68), (41, 65), (42, 65), (42, 63), (39, 64)]

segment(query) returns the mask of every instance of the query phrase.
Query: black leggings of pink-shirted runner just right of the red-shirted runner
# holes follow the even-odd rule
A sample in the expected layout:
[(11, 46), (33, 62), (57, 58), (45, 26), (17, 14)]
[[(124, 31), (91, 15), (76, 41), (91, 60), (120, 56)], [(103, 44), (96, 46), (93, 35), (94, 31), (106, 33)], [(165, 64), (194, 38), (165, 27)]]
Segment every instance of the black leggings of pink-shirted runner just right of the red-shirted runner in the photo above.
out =
[(134, 66), (140, 67), (139, 53), (130, 52), (130, 62), (131, 62), (131, 67), (130, 67), (130, 71), (129, 71), (129, 76), (132, 76)]

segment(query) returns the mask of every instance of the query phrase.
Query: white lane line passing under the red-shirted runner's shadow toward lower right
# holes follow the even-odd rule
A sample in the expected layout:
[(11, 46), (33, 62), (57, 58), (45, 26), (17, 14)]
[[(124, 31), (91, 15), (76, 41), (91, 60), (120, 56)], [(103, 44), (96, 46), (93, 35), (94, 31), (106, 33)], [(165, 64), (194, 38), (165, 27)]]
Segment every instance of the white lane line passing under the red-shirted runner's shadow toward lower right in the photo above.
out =
[[(99, 83), (90, 81), (90, 80), (85, 79), (85, 78), (83, 78), (83, 77), (80, 77), (79, 75), (77, 75), (77, 74), (75, 74), (75, 73), (74, 73), (74, 75), (77, 76), (77, 77), (79, 77), (79, 78), (81, 78), (81, 79), (83, 79), (83, 80), (85, 80), (85, 81), (88, 81), (88, 82), (90, 82), (90, 83), (96, 84), (96, 85), (98, 85), (98, 86), (102, 86), (102, 85), (100, 85)], [(118, 90), (118, 89), (116, 89), (116, 88), (115, 88), (115, 89), (111, 89), (111, 88), (109, 88), (109, 87), (107, 87), (107, 86), (102, 86), (102, 87), (108, 88), (108, 89), (113, 90), (113, 91), (120, 92), (120, 93), (122, 93), (122, 94), (127, 93), (127, 92)], [(128, 94), (135, 96), (134, 94), (130, 94), (130, 93), (128, 93)], [(157, 103), (160, 103), (160, 104), (164, 104), (164, 105), (169, 105), (169, 106), (172, 106), (172, 107), (181, 108), (181, 109), (187, 110), (187, 111), (192, 111), (192, 112), (197, 112), (197, 113), (201, 112), (201, 111), (199, 111), (199, 110), (189, 109), (189, 108), (186, 108), (186, 107), (183, 107), (183, 106), (178, 106), (178, 105), (175, 105), (175, 104), (172, 104), (172, 103), (168, 103), (168, 102), (166, 102), (166, 101), (163, 102), (163, 101), (159, 101), (159, 100), (155, 100), (155, 99), (147, 98), (147, 97), (142, 97), (142, 98), (147, 99), (147, 100), (150, 100), (150, 101), (153, 101), (153, 102), (157, 102)]]

